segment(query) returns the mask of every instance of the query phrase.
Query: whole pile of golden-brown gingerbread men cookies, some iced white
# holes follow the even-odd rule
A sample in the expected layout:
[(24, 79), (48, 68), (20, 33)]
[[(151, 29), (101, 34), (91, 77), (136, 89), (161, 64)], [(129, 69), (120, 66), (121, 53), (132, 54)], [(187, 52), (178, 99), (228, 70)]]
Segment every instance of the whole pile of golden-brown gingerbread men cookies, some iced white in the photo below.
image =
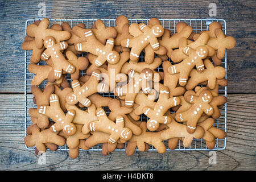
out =
[(97, 144), (104, 155), (150, 146), (163, 154), (164, 143), (174, 150), (193, 139), (214, 148), (216, 138), (226, 137), (214, 126), (226, 103), (218, 94), (228, 84), (221, 61), (236, 40), (218, 22), (201, 32), (178, 22), (175, 30), (157, 18), (130, 24), (125, 16), (114, 27), (100, 19), (92, 27), (49, 27), (47, 18), (28, 25), (22, 48), (32, 51), (28, 71), (37, 107), (28, 111), (33, 124), (24, 143), (41, 154), (67, 144), (71, 158)]

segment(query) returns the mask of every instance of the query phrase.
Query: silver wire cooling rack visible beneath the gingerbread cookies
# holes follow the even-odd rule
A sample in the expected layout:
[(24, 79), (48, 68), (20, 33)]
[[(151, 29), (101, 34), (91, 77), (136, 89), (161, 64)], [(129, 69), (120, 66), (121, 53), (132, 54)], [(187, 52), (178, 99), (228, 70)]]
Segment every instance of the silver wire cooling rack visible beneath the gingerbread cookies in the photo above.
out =
[[(28, 19), (26, 21), (26, 30), (27, 30), (27, 26), (31, 23), (34, 23), (35, 20), (42, 20), (42, 19)], [(97, 19), (49, 19), (49, 26), (51, 26), (52, 24), (61, 24), (63, 22), (67, 22), (71, 25), (71, 27), (73, 26), (77, 26), (77, 24), (79, 23), (84, 23), (86, 28), (90, 28), (94, 22), (96, 22)], [(150, 19), (129, 19), (129, 23), (148, 23), (148, 20)], [(175, 30), (175, 26), (178, 22), (185, 22), (187, 24), (189, 24), (189, 26), (192, 27), (193, 32), (200, 32), (200, 31), (204, 31), (204, 30), (209, 30), (208, 26), (210, 23), (212, 22), (219, 22), (222, 26), (222, 31), (224, 31), (225, 35), (226, 35), (226, 21), (224, 19), (159, 19), (162, 26), (164, 28), (168, 28), (169, 30), (171, 30), (172, 34), (175, 34), (176, 30)], [(115, 26), (115, 19), (102, 19), (102, 21), (104, 22), (106, 27), (114, 27)], [(26, 34), (26, 30), (25, 30), (25, 35)], [(24, 51), (24, 106), (25, 106), (25, 110), (24, 110), (24, 133), (26, 136), (26, 129), (28, 126), (30, 126), (32, 124), (31, 121), (31, 117), (30, 114), (28, 114), (28, 110), (30, 108), (35, 108), (36, 105), (33, 102), (33, 95), (31, 94), (31, 81), (34, 78), (35, 74), (34, 73), (30, 73), (28, 71), (28, 65), (30, 64), (30, 58), (32, 55), (32, 51)], [(84, 55), (81, 55), (84, 56)], [(139, 61), (143, 61), (143, 52), (141, 53), (141, 55), (139, 56)], [(171, 61), (169, 59), (169, 61)], [(172, 62), (172, 61), (171, 61)], [(222, 60), (221, 66), (225, 68), (226, 70), (226, 63), (227, 63), (227, 57), (226, 57), (226, 53), (225, 53), (225, 57)], [(45, 65), (45, 61), (40, 61), (39, 65)], [(163, 71), (162, 67), (158, 67), (156, 68), (158, 71)], [(227, 70), (226, 70), (227, 71)], [(85, 71), (80, 72), (80, 75), (86, 75)], [(226, 78), (226, 76), (225, 76)], [(69, 75), (67, 75), (66, 79), (71, 83), (71, 78)], [(47, 84), (47, 81), (43, 81), (42, 84), (39, 85), (40, 89), (45, 88)], [(222, 87), (220, 86), (219, 88), (219, 94), (222, 96), (227, 97), (227, 89), (226, 86)], [(113, 97), (115, 98), (114, 94), (112, 93), (104, 93), (102, 94), (102, 96), (105, 97)], [(106, 111), (106, 114), (110, 113), (110, 110), (108, 109), (108, 107), (105, 107), (104, 110)], [(222, 109), (220, 109), (221, 111), (221, 116), (218, 119), (214, 120), (214, 126), (218, 127), (218, 129), (222, 129), (224, 131), (226, 131), (226, 104), (222, 107)], [(147, 121), (147, 117), (146, 115), (142, 114), (141, 115), (141, 121)], [(167, 147), (167, 151), (171, 151), (170, 148), (168, 148), (168, 141), (165, 140), (164, 144), (166, 144)], [(26, 145), (25, 145), (26, 146)], [(35, 147), (27, 147), (27, 150), (35, 150)], [(224, 150), (226, 148), (226, 138), (225, 139), (216, 139), (216, 144), (215, 147), (212, 150)], [(124, 148), (122, 149), (115, 149), (115, 151), (125, 151), (126, 149), (126, 145)], [(69, 150), (68, 147), (65, 146), (60, 146), (58, 150)], [(93, 146), (92, 148), (90, 148), (88, 151), (101, 151), (102, 150), (102, 144), (97, 144), (96, 146)], [(136, 150), (138, 151), (138, 148), (136, 148)], [(205, 140), (204, 139), (193, 139), (193, 142), (191, 143), (191, 146), (189, 146), (188, 148), (183, 146), (183, 142), (178, 143), (176, 149), (176, 151), (192, 151), (192, 150), (209, 150), (205, 144)], [(150, 148), (148, 149), (148, 151), (156, 151), (156, 149), (150, 145)]]

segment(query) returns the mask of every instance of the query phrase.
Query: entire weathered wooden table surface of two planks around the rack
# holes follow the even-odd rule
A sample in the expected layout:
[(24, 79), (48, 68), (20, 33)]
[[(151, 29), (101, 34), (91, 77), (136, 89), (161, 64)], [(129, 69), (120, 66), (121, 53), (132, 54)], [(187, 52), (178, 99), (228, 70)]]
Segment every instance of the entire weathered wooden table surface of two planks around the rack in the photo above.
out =
[(47, 163), (38, 164), (24, 138), (24, 38), (27, 19), (38, 16), (42, 1), (0, 2), (0, 170), (255, 170), (256, 76), (255, 1), (43, 1), (47, 18), (209, 18), (209, 3), (225, 19), (227, 33), (237, 45), (228, 50), (228, 102), (226, 149), (216, 151), (217, 164), (209, 164), (209, 151), (135, 152), (47, 151)]

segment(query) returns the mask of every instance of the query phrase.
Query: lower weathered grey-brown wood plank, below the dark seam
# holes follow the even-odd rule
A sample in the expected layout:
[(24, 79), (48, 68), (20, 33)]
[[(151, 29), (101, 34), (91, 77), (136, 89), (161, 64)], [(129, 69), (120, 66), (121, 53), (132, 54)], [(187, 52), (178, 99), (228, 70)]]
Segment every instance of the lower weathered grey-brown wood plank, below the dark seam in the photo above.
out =
[[(31, 96), (30, 96), (31, 97)], [(24, 96), (0, 94), (1, 170), (255, 170), (256, 94), (228, 95), (227, 146), (216, 151), (217, 164), (210, 165), (208, 151), (135, 152), (127, 156), (114, 151), (81, 151), (69, 158), (67, 151), (47, 151), (46, 164), (27, 150), (24, 138)], [(122, 165), (120, 165), (122, 162)]]

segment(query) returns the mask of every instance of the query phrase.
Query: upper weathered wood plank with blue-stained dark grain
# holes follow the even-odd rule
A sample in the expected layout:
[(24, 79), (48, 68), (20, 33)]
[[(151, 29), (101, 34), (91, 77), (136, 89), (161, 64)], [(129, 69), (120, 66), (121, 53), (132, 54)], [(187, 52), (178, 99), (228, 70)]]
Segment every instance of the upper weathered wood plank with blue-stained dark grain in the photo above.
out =
[[(38, 16), (42, 1), (0, 2), (0, 93), (24, 90), (25, 22)], [(48, 18), (207, 18), (212, 1), (45, 1)], [(214, 1), (237, 46), (228, 50), (228, 92), (255, 93), (255, 2)], [(14, 76), (15, 75), (15, 76)]]

